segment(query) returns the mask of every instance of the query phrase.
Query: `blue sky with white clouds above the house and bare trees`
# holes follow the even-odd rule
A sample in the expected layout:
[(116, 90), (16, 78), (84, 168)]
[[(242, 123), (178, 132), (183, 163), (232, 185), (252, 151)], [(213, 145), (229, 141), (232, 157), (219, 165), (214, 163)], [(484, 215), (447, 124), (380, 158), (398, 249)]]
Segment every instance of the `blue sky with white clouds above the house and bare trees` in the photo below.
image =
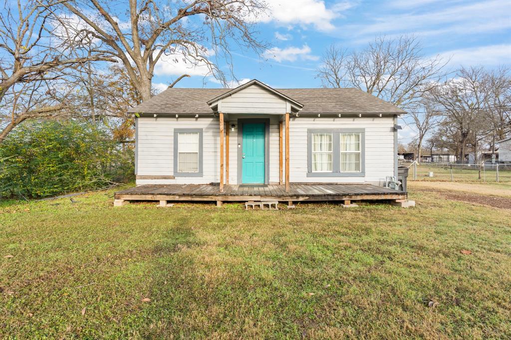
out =
[[(449, 67), (511, 65), (511, 0), (494, 1), (321, 1), (268, 0), (260, 18), (261, 38), (272, 47), (259, 58), (233, 50), (238, 80), (257, 78), (276, 88), (319, 87), (316, 68), (331, 44), (358, 50), (376, 36), (413, 34), (426, 57), (451, 58)], [(161, 62), (153, 83), (165, 88), (182, 65)], [(198, 74), (179, 87), (220, 87)]]

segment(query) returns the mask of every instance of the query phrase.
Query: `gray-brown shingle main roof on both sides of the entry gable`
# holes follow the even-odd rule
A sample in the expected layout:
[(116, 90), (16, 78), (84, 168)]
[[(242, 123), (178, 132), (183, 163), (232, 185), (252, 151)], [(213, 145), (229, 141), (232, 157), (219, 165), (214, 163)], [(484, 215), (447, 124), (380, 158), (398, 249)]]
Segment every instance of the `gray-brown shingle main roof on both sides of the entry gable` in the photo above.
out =
[[(276, 89), (304, 105), (301, 113), (406, 113), (356, 88)], [(222, 88), (169, 88), (128, 110), (131, 113), (213, 113), (207, 101), (227, 92)]]

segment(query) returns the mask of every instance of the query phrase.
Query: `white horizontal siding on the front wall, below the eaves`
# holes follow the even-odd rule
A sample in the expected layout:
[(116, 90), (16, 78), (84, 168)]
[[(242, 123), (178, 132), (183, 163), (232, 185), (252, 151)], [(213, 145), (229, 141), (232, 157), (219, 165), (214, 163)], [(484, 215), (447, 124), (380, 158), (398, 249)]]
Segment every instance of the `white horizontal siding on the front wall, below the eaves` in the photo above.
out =
[[(269, 180), (278, 183), (278, 134), (281, 116), (229, 115), (229, 183), (238, 184), (238, 119), (270, 118)], [(137, 139), (137, 175), (172, 176), (174, 169), (174, 129), (203, 129), (203, 176), (176, 177), (174, 180), (137, 180), (137, 184), (211, 183), (219, 182), (218, 118), (140, 117)], [(391, 117), (375, 118), (291, 118), (290, 181), (331, 183), (382, 183), (394, 174), (394, 132)], [(365, 177), (307, 177), (307, 129), (365, 129)], [(285, 129), (284, 133), (285, 133)], [(285, 141), (285, 136), (284, 136)], [(284, 145), (285, 148), (285, 145)], [(285, 166), (285, 162), (284, 166)]]

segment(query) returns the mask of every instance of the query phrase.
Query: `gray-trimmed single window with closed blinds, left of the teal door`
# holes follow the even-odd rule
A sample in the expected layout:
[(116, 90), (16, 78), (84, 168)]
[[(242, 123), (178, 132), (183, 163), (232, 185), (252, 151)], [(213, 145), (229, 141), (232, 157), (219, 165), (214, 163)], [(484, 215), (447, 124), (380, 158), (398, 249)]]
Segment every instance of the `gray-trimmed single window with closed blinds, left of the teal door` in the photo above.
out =
[(202, 129), (174, 129), (174, 176), (202, 177)]

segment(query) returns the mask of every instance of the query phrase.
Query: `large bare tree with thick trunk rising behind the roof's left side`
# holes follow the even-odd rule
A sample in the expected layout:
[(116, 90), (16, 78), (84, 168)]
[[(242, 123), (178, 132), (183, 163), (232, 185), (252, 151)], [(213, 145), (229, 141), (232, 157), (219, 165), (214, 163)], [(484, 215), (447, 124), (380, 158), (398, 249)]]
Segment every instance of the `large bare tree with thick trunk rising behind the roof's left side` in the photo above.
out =
[(62, 17), (67, 31), (101, 41), (102, 52), (121, 60), (144, 101), (151, 97), (154, 68), (164, 55), (190, 67), (205, 66), (226, 83), (218, 58), (223, 55), (229, 60), (231, 41), (257, 52), (265, 47), (252, 30), (254, 18), (266, 9), (259, 0), (144, 0), (140, 4), (130, 0), (127, 22), (119, 19), (123, 10), (108, 1), (74, 0), (62, 6), (72, 13)]

